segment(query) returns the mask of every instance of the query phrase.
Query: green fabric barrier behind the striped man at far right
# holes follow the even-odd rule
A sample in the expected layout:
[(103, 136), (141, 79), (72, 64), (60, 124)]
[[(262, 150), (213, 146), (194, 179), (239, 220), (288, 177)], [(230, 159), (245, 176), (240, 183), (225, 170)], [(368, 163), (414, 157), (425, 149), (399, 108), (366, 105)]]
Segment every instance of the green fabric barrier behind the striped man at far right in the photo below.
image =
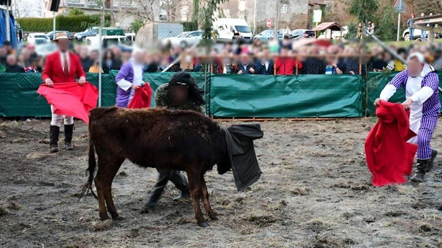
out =
[[(397, 72), (385, 73), (385, 72), (370, 72), (368, 73), (367, 79), (367, 108), (366, 108), (366, 116), (374, 116), (375, 115), (375, 106), (373, 102), (376, 98), (381, 94), (382, 89), (384, 89), (385, 85), (390, 82), (394, 76), (396, 76)], [(439, 76), (439, 86), (441, 86), (442, 82), (442, 72), (437, 72)], [(439, 92), (439, 98), (442, 99), (442, 95)], [(397, 92), (390, 98), (389, 102), (401, 103), (405, 101), (405, 91), (403, 88), (397, 90)]]

